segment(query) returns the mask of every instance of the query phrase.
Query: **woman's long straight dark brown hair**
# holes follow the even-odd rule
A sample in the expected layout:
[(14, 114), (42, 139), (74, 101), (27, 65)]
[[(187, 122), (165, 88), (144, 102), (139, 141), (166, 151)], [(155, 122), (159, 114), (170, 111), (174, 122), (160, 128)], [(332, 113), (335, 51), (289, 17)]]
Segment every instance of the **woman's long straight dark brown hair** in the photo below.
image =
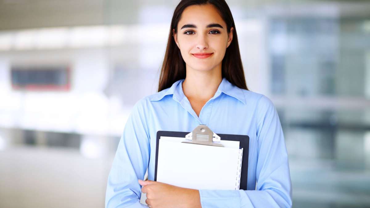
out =
[(174, 11), (174, 15), (172, 16), (171, 27), (167, 40), (166, 53), (162, 64), (161, 74), (159, 75), (158, 92), (171, 87), (171, 85), (178, 80), (185, 79), (185, 61), (182, 59), (180, 49), (177, 47), (172, 36), (172, 29), (175, 29), (175, 33), (177, 33), (177, 25), (181, 19), (181, 14), (186, 7), (191, 5), (204, 4), (212, 4), (218, 9), (223, 21), (225, 21), (226, 23), (228, 34), (230, 33), (231, 27), (234, 28), (233, 40), (231, 41), (229, 47), (226, 48), (225, 56), (222, 60), (222, 77), (226, 77), (226, 79), (230, 83), (236, 85), (237, 87), (248, 90), (245, 82), (242, 59), (240, 58), (239, 43), (238, 36), (236, 34), (235, 23), (226, 1), (181, 0)]

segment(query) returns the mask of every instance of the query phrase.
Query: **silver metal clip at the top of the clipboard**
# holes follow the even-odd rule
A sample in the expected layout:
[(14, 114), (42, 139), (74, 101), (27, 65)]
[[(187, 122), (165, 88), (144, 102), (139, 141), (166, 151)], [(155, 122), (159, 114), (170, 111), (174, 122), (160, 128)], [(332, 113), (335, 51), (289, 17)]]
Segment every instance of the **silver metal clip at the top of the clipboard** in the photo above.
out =
[(222, 144), (216, 143), (220, 142), (221, 138), (217, 134), (213, 133), (208, 126), (203, 124), (198, 125), (192, 132), (186, 134), (185, 139), (190, 141), (183, 141), (182, 143), (223, 147)]

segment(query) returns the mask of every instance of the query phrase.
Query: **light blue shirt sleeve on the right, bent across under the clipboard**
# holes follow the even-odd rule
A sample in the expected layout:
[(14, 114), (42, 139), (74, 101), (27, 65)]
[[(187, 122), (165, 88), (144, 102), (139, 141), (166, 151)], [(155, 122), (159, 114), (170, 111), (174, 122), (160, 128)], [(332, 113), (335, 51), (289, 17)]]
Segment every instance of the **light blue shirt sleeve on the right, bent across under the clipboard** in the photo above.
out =
[(199, 190), (203, 208), (292, 207), (292, 182), (284, 135), (276, 108), (269, 98), (259, 99), (256, 116), (256, 190)]

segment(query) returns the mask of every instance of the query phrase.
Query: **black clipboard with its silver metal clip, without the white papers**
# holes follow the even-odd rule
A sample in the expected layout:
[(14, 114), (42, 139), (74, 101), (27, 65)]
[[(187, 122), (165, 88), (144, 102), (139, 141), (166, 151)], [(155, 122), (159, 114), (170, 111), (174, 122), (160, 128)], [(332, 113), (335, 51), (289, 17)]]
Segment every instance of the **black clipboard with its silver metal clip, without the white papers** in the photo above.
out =
[(248, 181), (248, 155), (249, 155), (249, 136), (248, 135), (237, 135), (237, 134), (215, 134), (206, 125), (198, 125), (192, 132), (182, 131), (157, 131), (157, 146), (155, 150), (155, 171), (154, 181), (157, 181), (158, 172), (158, 150), (159, 140), (161, 137), (179, 137), (186, 138), (187, 141), (183, 143), (189, 143), (192, 145), (211, 145), (224, 148), (222, 144), (219, 144), (220, 140), (228, 141), (239, 141), (239, 148), (243, 148), (242, 154), (242, 166), (240, 172), (240, 185), (239, 189), (247, 190)]

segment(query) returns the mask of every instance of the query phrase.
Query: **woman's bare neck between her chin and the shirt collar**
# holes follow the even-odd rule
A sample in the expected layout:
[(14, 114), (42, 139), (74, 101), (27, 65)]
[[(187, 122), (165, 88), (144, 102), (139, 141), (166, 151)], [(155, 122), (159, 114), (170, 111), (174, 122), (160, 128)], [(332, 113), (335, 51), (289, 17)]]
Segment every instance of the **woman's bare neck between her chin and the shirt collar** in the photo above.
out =
[(188, 98), (208, 101), (215, 95), (221, 81), (221, 64), (207, 71), (194, 70), (186, 65), (182, 90)]

